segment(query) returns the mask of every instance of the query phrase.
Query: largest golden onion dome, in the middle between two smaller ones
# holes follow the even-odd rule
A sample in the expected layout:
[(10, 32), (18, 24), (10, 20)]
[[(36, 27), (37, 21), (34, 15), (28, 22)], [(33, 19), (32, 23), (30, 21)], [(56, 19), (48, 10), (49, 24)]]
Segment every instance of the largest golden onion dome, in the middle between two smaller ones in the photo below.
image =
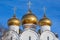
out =
[(22, 17), (22, 25), (23, 24), (37, 24), (37, 17), (32, 14), (31, 10)]

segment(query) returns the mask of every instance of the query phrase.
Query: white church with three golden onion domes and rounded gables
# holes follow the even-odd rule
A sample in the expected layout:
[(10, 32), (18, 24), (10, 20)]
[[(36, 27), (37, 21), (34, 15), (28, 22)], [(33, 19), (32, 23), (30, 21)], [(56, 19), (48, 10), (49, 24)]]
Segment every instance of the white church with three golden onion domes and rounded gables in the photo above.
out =
[[(24, 28), (21, 32), (20, 25)], [(36, 32), (36, 27), (40, 30)], [(59, 40), (58, 35), (51, 31), (52, 22), (44, 16), (38, 21), (37, 17), (29, 9), (27, 14), (22, 16), (22, 20), (17, 19), (16, 14), (8, 20), (9, 31), (4, 33), (1, 40)]]

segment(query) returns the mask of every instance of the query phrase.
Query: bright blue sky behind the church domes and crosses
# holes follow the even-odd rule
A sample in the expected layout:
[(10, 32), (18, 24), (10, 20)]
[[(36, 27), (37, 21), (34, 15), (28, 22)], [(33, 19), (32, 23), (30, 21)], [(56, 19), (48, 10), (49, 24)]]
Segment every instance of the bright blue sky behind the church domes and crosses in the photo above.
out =
[[(52, 21), (52, 32), (60, 36), (60, 0), (30, 0), (31, 10), (39, 19), (44, 15), (43, 7), (47, 8), (46, 16)], [(0, 0), (0, 23), (4, 28), (8, 28), (7, 22), (14, 14), (16, 7), (17, 18), (21, 20), (22, 16), (28, 11), (28, 0)], [(38, 28), (37, 28), (38, 29)]]

